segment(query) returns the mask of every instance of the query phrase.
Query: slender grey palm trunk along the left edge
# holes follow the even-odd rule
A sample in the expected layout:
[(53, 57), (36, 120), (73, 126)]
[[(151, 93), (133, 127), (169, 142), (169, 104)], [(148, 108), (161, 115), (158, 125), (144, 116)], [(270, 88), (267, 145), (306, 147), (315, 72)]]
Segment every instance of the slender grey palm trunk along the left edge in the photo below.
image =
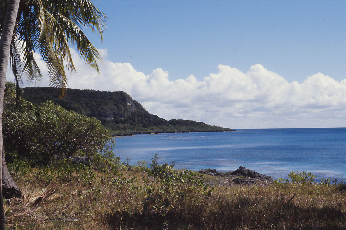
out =
[[(3, 203), (2, 203), (2, 200), (3, 200), (2, 199), (2, 172), (4, 171), (2, 165), (3, 163), (5, 163), (6, 165), (4, 154), (3, 154), (4, 148), (3, 148), (3, 139), (2, 139), (3, 97), (5, 93), (7, 63), (10, 56), (10, 45), (11, 45), (13, 30), (15, 29), (17, 13), (19, 8), (19, 1), (20, 0), (9, 0), (4, 25), (2, 28), (2, 34), (0, 38), (0, 150), (1, 150), (1, 153), (0, 153), (0, 178), (1, 178), (0, 180), (0, 206), (1, 206), (0, 207), (0, 230), (5, 229), (5, 214), (3, 211)], [(8, 170), (7, 170), (7, 173), (8, 173)]]

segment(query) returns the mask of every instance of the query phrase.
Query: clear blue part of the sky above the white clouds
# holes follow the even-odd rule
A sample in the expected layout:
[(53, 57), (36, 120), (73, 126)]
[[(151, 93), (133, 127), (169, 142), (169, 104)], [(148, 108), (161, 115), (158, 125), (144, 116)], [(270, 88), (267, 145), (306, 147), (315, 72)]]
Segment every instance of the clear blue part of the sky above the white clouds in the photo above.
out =
[(262, 64), (289, 82), (317, 72), (345, 78), (345, 1), (94, 1), (108, 17), (113, 62), (173, 80), (202, 79), (218, 64)]

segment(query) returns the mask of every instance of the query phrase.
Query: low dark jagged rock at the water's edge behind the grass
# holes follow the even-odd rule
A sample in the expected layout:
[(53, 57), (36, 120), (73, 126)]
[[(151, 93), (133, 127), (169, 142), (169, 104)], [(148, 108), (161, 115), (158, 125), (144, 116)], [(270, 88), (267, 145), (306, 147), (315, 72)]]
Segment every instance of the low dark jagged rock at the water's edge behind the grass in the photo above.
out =
[(198, 172), (226, 179), (233, 184), (272, 184), (274, 182), (272, 177), (246, 169), (245, 167), (239, 167), (237, 170), (230, 172), (219, 172), (216, 169), (201, 169)]

